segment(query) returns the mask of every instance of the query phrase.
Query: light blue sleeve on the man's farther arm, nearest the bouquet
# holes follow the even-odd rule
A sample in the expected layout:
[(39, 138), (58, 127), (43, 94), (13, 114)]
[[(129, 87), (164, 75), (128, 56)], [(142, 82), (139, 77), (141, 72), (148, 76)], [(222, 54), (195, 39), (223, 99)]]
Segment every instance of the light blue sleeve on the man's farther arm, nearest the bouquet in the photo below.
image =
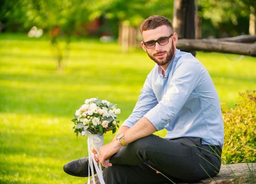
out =
[(132, 127), (137, 121), (139, 121), (150, 109), (156, 106), (157, 99), (152, 90), (151, 84), (152, 72), (147, 76), (141, 94), (137, 103), (133, 109), (132, 114), (127, 118), (122, 126)]

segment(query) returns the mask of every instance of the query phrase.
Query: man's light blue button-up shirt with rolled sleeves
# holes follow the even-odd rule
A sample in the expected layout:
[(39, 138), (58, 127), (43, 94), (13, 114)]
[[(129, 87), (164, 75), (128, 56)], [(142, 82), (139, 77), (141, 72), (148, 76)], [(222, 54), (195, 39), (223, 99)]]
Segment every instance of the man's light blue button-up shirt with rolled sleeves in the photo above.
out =
[(202, 138), (204, 145), (223, 147), (224, 128), (220, 100), (204, 66), (190, 53), (176, 49), (162, 75), (158, 65), (145, 80), (132, 114), (122, 126), (132, 127), (145, 117), (165, 138)]

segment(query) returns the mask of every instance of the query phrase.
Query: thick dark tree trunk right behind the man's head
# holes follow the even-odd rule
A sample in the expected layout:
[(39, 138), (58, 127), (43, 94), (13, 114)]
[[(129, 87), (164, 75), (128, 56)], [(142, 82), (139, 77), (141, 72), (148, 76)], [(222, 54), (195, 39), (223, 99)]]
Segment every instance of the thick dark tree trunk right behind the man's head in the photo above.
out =
[[(175, 0), (173, 5), (173, 29), (178, 38), (195, 38), (194, 0)], [(193, 50), (183, 50), (195, 56)]]

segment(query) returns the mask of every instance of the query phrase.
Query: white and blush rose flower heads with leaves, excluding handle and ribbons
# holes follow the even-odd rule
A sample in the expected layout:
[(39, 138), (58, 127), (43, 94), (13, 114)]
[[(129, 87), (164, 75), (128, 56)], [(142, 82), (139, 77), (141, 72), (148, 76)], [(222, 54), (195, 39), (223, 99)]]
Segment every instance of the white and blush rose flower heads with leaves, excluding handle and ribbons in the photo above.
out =
[(106, 131), (112, 130), (113, 134), (116, 127), (119, 127), (119, 119), (117, 117), (121, 110), (116, 108), (116, 104), (111, 104), (107, 100), (97, 98), (86, 99), (80, 109), (75, 112), (75, 123), (73, 127), (76, 135), (104, 134)]

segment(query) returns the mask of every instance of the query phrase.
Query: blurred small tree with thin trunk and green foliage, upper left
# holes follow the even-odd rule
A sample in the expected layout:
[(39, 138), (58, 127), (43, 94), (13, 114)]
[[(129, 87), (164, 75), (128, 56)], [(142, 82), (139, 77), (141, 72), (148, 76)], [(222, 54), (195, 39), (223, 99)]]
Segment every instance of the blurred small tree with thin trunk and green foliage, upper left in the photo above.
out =
[[(97, 16), (96, 9), (107, 1), (98, 0), (18, 0), (4, 1), (2, 21), (29, 30), (32, 26), (42, 28), (50, 38), (57, 68), (62, 69), (64, 55), (68, 53), (71, 36)], [(100, 15), (100, 14), (99, 14)], [(6, 21), (7, 20), (7, 21)], [(84, 30), (83, 30), (84, 31)], [(64, 39), (62, 48), (60, 39)]]

